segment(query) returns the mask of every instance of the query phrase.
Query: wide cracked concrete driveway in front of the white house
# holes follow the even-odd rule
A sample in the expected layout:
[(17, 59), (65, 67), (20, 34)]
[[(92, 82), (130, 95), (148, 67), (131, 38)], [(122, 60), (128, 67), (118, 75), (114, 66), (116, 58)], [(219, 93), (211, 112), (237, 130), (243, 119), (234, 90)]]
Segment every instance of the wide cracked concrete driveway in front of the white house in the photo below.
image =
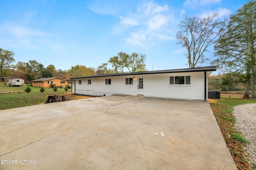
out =
[(207, 101), (107, 96), (0, 111), (0, 169), (235, 170)]

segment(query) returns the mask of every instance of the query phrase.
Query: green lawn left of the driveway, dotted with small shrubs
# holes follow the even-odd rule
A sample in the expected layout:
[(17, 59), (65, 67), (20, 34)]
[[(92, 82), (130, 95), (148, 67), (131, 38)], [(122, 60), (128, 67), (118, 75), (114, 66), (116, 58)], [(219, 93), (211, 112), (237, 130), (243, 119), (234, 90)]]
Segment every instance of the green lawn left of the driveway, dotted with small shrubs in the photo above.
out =
[(44, 103), (49, 95), (67, 95), (70, 100), (74, 95), (68, 94), (71, 89), (65, 91), (64, 88), (58, 88), (56, 92), (52, 88), (45, 88), (44, 92), (40, 92), (38, 87), (30, 87), (31, 92), (24, 92), (28, 86), (24, 84), (20, 87), (9, 87), (0, 82), (0, 92), (10, 92), (0, 94), (0, 110), (11, 109), (16, 107), (32, 106)]

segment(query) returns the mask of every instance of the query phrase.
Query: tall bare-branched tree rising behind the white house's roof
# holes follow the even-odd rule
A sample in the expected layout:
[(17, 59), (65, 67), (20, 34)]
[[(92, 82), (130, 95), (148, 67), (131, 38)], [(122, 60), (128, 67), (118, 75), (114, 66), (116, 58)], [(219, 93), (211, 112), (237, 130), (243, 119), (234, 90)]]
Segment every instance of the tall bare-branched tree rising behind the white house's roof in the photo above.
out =
[(176, 33), (178, 44), (186, 49), (189, 68), (194, 68), (198, 64), (205, 63), (208, 58), (204, 56), (207, 48), (212, 45), (223, 31), (227, 19), (220, 21), (218, 14), (212, 14), (207, 18), (198, 18), (186, 16), (181, 21), (180, 31)]

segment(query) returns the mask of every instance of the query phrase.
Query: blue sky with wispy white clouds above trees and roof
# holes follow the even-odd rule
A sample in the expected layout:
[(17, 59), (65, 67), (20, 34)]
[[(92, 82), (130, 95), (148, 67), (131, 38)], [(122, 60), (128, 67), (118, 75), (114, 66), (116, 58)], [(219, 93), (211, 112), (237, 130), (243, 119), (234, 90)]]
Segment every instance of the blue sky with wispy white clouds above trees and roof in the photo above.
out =
[[(188, 17), (229, 17), (247, 0), (0, 0), (0, 48), (16, 62), (68, 70), (96, 68), (123, 51), (146, 55), (146, 69), (188, 68), (177, 45)], [(213, 48), (205, 56), (214, 60)], [(208, 66), (210, 62), (201, 64)], [(111, 65), (108, 65), (111, 68)]]

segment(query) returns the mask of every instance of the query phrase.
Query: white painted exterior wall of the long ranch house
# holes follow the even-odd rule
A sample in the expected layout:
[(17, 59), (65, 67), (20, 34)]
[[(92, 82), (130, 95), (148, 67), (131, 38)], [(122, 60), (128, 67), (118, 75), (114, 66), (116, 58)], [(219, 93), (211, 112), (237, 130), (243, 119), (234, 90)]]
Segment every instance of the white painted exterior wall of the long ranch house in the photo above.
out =
[[(207, 73), (207, 77), (210, 73)], [(170, 76), (190, 76), (190, 85), (170, 85)], [(125, 78), (133, 77), (135, 77), (133, 84), (125, 84)], [(204, 100), (204, 72), (76, 78), (75, 93), (93, 96), (137, 95), (138, 77), (143, 77), (144, 96)], [(111, 79), (111, 84), (105, 84), (105, 79)], [(78, 80), (82, 83), (78, 84)], [(91, 80), (91, 84), (88, 84), (88, 80)]]

